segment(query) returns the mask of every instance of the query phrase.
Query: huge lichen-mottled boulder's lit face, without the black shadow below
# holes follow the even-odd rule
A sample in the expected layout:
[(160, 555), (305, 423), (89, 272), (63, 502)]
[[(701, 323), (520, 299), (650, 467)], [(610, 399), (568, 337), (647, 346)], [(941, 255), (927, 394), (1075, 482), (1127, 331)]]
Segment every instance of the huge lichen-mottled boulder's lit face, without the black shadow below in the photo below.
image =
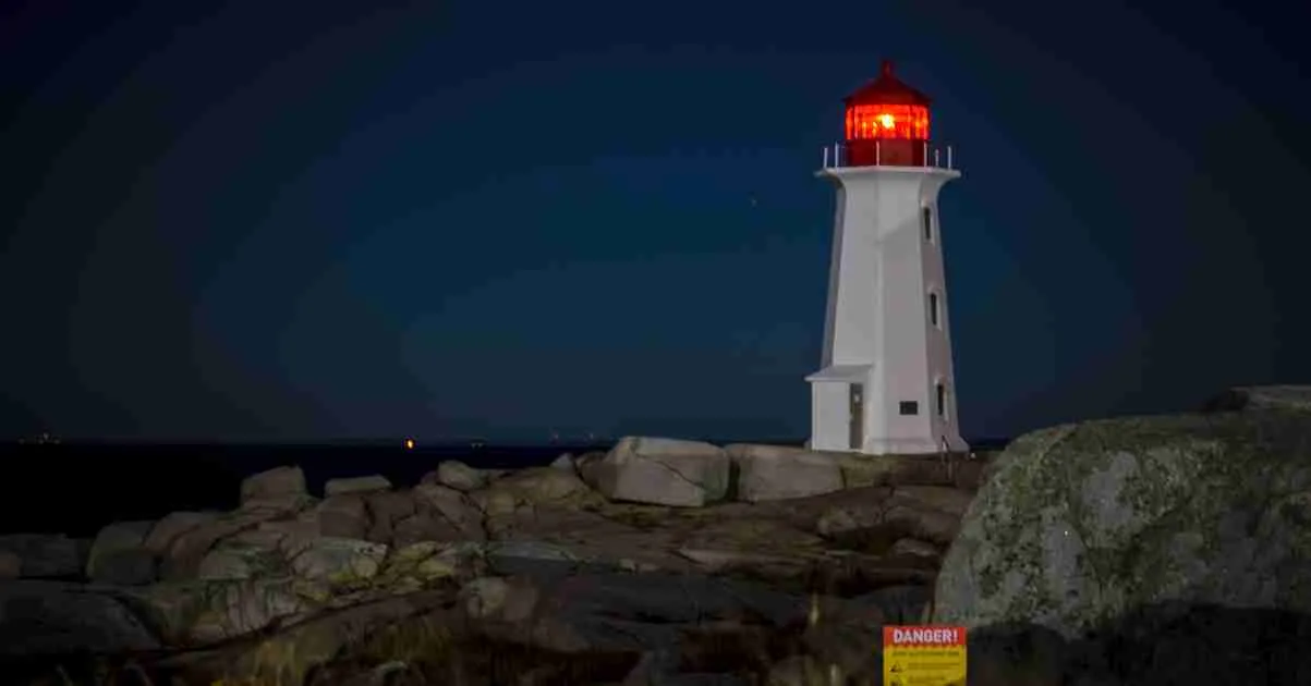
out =
[(944, 559), (939, 621), (1071, 638), (1163, 604), (1311, 613), (1306, 415), (1068, 424), (999, 460)]

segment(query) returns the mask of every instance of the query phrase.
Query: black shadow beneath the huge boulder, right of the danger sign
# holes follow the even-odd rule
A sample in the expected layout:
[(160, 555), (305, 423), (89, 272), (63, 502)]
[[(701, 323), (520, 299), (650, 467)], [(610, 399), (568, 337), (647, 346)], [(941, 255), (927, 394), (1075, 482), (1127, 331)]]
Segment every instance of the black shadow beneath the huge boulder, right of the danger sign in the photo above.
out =
[(1067, 641), (1036, 624), (970, 631), (970, 686), (1311, 683), (1311, 615), (1159, 604)]

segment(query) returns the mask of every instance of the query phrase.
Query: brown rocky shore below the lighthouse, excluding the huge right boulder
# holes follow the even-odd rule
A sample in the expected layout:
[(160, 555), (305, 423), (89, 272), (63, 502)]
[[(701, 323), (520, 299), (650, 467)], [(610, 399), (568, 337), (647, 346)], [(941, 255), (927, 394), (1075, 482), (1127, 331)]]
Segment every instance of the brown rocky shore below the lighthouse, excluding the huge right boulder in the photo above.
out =
[[(90, 542), (0, 537), (16, 579), (0, 585), (0, 653), (132, 656), (186, 683), (420, 678), (431, 665), (343, 657), (388, 627), (565, 672), (608, 665), (594, 676), (616, 683), (688, 674), (678, 656), (704, 640), (747, 643), (763, 652), (718, 656), (718, 674), (764, 677), (796, 666), (770, 644), (801, 641), (815, 613), (922, 619), (982, 466), (633, 437), (517, 471), (447, 461), (410, 488), (333, 479), (317, 497), (287, 466), (249, 477), (232, 512), (115, 522)], [(565, 673), (526, 669), (511, 682)]]

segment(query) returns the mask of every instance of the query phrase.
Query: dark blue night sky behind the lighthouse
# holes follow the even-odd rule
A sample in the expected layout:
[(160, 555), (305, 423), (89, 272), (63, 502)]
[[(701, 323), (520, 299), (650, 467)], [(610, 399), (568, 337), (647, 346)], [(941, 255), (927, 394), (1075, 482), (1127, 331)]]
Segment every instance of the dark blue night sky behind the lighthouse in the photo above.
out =
[(1006, 5), (9, 0), (0, 435), (804, 436), (885, 55), (968, 436), (1311, 381), (1306, 3)]

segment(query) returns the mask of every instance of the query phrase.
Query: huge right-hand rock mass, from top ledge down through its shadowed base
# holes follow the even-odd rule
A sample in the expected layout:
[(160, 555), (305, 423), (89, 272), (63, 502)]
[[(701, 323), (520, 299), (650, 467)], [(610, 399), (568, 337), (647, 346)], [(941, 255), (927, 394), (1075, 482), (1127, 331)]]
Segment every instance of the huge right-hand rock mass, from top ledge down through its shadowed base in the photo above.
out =
[(1308, 397), (1236, 389), (1013, 441), (936, 580), (971, 679), (1311, 682)]

